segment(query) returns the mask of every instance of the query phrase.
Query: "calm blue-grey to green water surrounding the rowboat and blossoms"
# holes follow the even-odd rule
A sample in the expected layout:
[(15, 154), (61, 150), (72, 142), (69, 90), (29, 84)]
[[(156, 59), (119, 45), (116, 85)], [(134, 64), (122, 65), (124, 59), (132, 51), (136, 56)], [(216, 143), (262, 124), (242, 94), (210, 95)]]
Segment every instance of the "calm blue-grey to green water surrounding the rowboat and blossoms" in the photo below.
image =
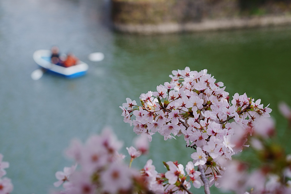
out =
[[(290, 153), (287, 121), (278, 113), (278, 102), (290, 103), (291, 26), (178, 33), (167, 35), (122, 34), (111, 30), (109, 1), (2, 0), (0, 1), (0, 153), (9, 161), (7, 177), (12, 193), (48, 193), (55, 172), (72, 161), (63, 150), (70, 140), (86, 140), (111, 126), (121, 151), (136, 137), (123, 123), (125, 98), (139, 101), (141, 93), (155, 91), (170, 81), (172, 70), (208, 69), (233, 96), (246, 92), (273, 109), (278, 132), (274, 137)], [(45, 73), (34, 81), (37, 69), (32, 54), (57, 45), (88, 63), (87, 75), (64, 79)], [(105, 59), (91, 62), (92, 52)], [(162, 161), (186, 165), (192, 150), (183, 137), (164, 141), (154, 135), (150, 154), (133, 162), (142, 168), (152, 158), (159, 172)], [(239, 156), (248, 160), (251, 154)], [(129, 156), (126, 160), (129, 161)], [(192, 190), (194, 191), (194, 190)], [(212, 187), (212, 192), (219, 193)], [(195, 193), (203, 193), (203, 189)]]

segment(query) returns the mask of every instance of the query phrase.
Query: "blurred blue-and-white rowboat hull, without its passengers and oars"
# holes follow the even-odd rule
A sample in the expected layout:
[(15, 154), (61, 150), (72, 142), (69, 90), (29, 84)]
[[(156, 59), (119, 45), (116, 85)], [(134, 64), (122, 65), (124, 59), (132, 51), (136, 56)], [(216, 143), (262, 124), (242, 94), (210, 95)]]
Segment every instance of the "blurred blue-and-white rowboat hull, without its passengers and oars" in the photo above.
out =
[[(62, 54), (65, 56), (65, 54)], [(70, 67), (63, 67), (51, 63), (51, 51), (50, 50), (36, 50), (33, 53), (33, 60), (46, 72), (61, 75), (66, 78), (75, 78), (85, 75), (88, 70), (88, 64), (77, 61), (77, 64)]]

